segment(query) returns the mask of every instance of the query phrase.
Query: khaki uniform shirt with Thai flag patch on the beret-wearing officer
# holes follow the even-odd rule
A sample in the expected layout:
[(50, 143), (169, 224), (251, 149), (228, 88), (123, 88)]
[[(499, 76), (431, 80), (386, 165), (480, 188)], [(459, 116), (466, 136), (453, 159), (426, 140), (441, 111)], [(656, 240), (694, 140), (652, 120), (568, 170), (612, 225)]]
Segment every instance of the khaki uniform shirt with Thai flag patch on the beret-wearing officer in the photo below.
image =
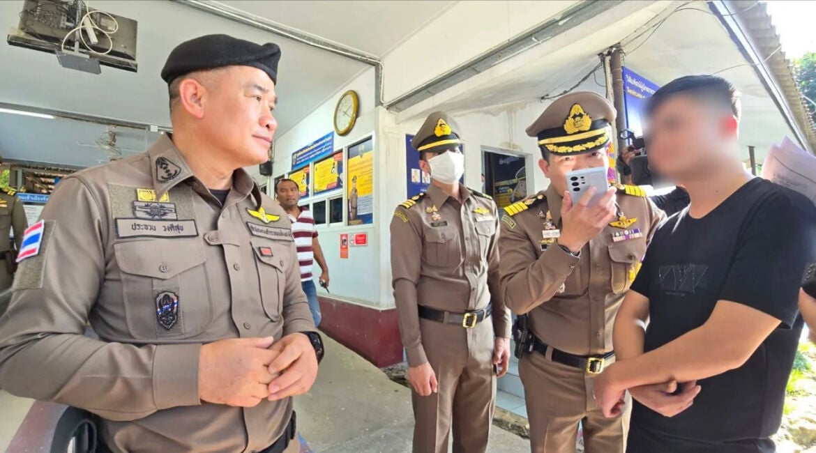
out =
[(198, 398), (202, 344), (315, 330), (289, 218), (246, 172), (222, 208), (165, 136), (64, 178), (42, 218), (0, 320), (0, 387), (95, 412), (113, 451), (259, 451), (281, 436), (291, 398)]

